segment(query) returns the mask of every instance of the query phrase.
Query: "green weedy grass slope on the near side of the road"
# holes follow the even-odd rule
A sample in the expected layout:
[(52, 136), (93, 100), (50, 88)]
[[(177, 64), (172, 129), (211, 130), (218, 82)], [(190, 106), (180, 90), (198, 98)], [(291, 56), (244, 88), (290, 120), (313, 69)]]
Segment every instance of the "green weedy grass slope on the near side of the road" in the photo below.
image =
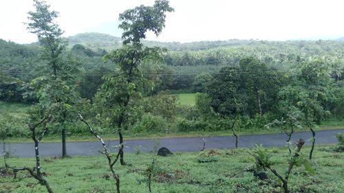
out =
[[(344, 190), (344, 154), (333, 152), (334, 146), (316, 146), (312, 166), (316, 171), (310, 176), (303, 168), (294, 168), (290, 177), (292, 192), (342, 192)], [(248, 168), (254, 166), (249, 149), (206, 150), (205, 152), (175, 152), (171, 157), (158, 157), (153, 177), (153, 192), (281, 192), (275, 176), (268, 172), (268, 180), (253, 177)], [(270, 148), (277, 171), (287, 170), (286, 148)], [(307, 154), (309, 148), (302, 149)], [(127, 154), (132, 166), (115, 168), (120, 174), (122, 192), (148, 192), (144, 182), (145, 170), (153, 154)], [(199, 163), (198, 159), (217, 162)], [(11, 158), (11, 166), (34, 166), (34, 159)], [(42, 170), (54, 192), (114, 192), (114, 181), (103, 155), (73, 157), (70, 159), (44, 158)], [(0, 192), (46, 192), (26, 172), (17, 179), (0, 175)]]

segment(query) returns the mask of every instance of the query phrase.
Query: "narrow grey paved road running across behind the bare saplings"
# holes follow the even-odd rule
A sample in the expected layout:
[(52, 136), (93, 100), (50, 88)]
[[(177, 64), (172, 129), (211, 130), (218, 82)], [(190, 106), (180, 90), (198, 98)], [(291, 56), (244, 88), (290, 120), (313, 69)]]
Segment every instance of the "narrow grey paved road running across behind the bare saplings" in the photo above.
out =
[[(332, 144), (336, 143), (334, 135), (336, 133), (344, 133), (341, 130), (322, 130), (316, 132), (316, 144)], [(297, 141), (299, 138), (310, 139), (312, 137), (309, 132), (294, 133), (292, 141)], [(118, 141), (107, 141), (110, 147), (116, 146)], [(264, 147), (271, 146), (286, 146), (286, 135), (271, 134), (271, 135), (243, 135), (239, 137), (239, 147), (253, 147), (255, 144), (263, 144)], [(306, 141), (310, 144), (310, 141)], [(155, 146), (169, 148), (172, 152), (192, 152), (198, 151), (202, 148), (203, 141), (198, 137), (184, 137), (184, 138), (167, 138), (167, 139), (138, 139), (125, 141), (125, 152), (134, 152), (140, 147), (141, 151), (149, 152)], [(61, 156), (61, 143), (41, 143), (39, 144), (39, 152), (42, 157)], [(12, 155), (19, 157), (34, 157), (33, 143), (14, 143), (7, 144), (8, 150)], [(235, 137), (209, 137), (207, 139), (206, 148), (234, 148)], [(97, 155), (102, 146), (99, 141), (90, 142), (72, 142), (67, 143), (68, 155)], [(111, 148), (116, 152), (116, 148)]]

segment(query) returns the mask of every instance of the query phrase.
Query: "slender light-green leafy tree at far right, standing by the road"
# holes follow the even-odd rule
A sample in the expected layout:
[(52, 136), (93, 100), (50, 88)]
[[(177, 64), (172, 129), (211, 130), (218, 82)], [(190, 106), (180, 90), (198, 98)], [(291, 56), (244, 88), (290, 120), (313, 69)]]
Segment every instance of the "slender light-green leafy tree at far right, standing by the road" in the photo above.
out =
[(325, 109), (327, 100), (330, 98), (330, 85), (333, 81), (330, 78), (329, 66), (322, 59), (310, 59), (296, 66), (290, 74), (292, 87), (296, 90), (296, 96), (290, 96), (296, 102), (295, 106), (304, 114), (306, 126), (312, 132), (312, 148), (309, 159), (315, 144), (314, 125), (320, 124), (324, 115), (330, 113)]

